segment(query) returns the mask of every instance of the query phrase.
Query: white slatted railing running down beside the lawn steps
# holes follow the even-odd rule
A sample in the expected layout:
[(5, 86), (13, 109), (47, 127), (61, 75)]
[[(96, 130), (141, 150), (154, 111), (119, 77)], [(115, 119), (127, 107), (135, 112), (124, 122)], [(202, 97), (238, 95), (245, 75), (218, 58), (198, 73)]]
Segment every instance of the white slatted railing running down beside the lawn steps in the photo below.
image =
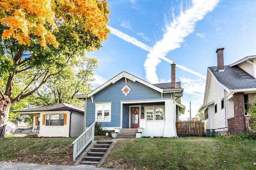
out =
[(73, 161), (76, 161), (76, 157), (85, 149), (85, 147), (94, 141), (94, 128), (95, 122), (90, 125), (72, 144), (74, 145), (73, 150)]

